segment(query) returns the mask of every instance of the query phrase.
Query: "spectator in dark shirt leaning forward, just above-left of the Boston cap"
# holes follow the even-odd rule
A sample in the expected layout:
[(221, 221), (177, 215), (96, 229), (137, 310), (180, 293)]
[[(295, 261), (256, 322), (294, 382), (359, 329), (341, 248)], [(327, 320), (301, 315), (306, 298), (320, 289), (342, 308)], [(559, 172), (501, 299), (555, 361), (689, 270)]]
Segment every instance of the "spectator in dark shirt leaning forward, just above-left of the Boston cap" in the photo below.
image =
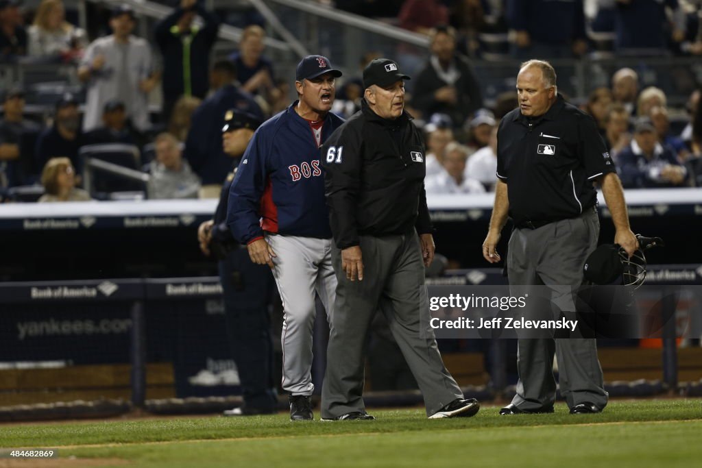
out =
[(265, 31), (258, 25), (251, 25), (241, 33), (239, 51), (230, 55), (234, 62), (236, 76), (241, 88), (251, 94), (264, 97), (273, 87), (273, 64), (263, 56)]

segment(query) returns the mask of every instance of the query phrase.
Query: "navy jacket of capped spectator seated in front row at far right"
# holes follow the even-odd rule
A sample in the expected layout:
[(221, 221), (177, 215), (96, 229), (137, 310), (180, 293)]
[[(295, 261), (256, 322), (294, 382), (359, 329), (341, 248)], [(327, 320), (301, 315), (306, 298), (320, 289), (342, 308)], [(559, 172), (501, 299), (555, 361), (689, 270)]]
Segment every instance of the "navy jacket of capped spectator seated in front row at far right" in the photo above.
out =
[(635, 141), (617, 155), (617, 172), (625, 189), (680, 187), (661, 180), (661, 168), (667, 164), (682, 166), (673, 149), (660, 143), (656, 143), (654, 157), (650, 161)]

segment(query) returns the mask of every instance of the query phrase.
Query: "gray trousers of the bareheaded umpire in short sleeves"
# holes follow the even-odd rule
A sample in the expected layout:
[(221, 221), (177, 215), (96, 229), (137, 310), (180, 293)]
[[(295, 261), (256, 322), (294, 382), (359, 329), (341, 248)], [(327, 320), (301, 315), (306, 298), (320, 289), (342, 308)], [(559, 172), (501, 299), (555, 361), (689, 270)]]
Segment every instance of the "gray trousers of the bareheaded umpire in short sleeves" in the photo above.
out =
[[(585, 210), (578, 218), (552, 222), (538, 229), (515, 229), (508, 248), (510, 284), (552, 286), (556, 295), (557, 286), (580, 286), (585, 259), (595, 250), (599, 234), (600, 220), (594, 208)], [(585, 401), (599, 408), (607, 405), (608, 394), (604, 391), (594, 338), (520, 339), (517, 347), (519, 381), (512, 404), (520, 410), (553, 406), (554, 352), (560, 391), (568, 406), (573, 408)]]

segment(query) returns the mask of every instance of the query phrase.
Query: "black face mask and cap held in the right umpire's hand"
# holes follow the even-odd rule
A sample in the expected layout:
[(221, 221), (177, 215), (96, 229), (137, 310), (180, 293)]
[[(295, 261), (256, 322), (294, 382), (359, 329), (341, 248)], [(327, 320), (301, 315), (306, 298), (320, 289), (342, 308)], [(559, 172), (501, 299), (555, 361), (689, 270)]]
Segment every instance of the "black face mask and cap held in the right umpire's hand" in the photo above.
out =
[(621, 278), (623, 286), (641, 286), (646, 280), (646, 255), (644, 250), (665, 246), (660, 237), (644, 237), (636, 234), (639, 248), (631, 257), (618, 244), (603, 244), (585, 260), (583, 277), (595, 284), (611, 284)]

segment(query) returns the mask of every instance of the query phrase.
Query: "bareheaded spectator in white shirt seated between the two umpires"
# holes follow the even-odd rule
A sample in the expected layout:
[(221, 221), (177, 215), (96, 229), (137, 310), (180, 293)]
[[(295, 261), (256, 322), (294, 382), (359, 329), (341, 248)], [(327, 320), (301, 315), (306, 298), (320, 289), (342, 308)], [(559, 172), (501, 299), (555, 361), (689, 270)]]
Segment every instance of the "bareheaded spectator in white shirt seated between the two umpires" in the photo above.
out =
[(485, 187), (472, 177), (465, 176), (465, 161), (470, 150), (457, 142), (446, 145), (444, 169), (425, 181), (428, 194), (480, 194)]

